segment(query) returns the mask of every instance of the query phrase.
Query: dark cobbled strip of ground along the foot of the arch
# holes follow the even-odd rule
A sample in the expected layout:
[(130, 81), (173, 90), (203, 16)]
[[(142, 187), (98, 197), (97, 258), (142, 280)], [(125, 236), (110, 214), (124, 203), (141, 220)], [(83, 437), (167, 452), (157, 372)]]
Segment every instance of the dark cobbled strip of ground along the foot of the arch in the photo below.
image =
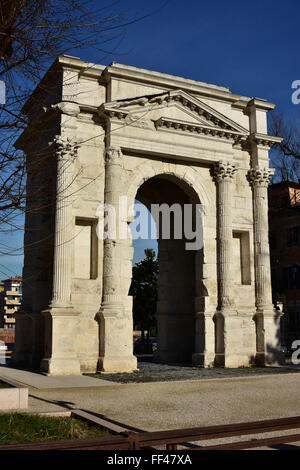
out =
[(158, 364), (152, 362), (150, 357), (138, 358), (139, 370), (133, 373), (122, 374), (87, 374), (90, 377), (105, 379), (120, 383), (146, 383), (169, 382), (174, 380), (221, 379), (230, 377), (249, 377), (256, 375), (287, 374), (300, 372), (300, 367), (240, 367), (238, 369), (225, 369), (215, 367), (204, 369), (202, 367), (182, 364)]

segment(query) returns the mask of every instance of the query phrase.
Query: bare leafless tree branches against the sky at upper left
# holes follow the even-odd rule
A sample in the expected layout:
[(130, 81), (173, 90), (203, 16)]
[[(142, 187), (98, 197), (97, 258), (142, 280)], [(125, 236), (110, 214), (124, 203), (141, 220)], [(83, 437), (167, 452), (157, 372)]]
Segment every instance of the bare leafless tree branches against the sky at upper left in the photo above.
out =
[[(6, 102), (0, 103), (0, 234), (22, 230), (26, 162), (14, 142), (27, 126), (23, 104), (58, 55), (93, 48), (103, 61), (119, 51), (127, 28), (155, 11), (129, 12), (115, 0), (1, 0), (0, 80)], [(167, 2), (163, 2), (162, 8)], [(43, 90), (45, 91), (45, 90)], [(36, 159), (38, 171), (43, 157)], [(32, 196), (32, 195), (31, 195)], [(28, 197), (28, 195), (27, 195)], [(0, 255), (15, 248), (0, 241)], [(1, 267), (1, 265), (0, 265)]]

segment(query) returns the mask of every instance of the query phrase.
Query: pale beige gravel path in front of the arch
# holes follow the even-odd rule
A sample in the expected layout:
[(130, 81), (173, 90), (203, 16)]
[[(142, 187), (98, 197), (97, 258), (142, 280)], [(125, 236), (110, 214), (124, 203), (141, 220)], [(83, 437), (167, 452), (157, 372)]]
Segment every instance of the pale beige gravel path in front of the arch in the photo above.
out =
[(29, 390), (29, 411), (92, 411), (138, 429), (160, 430), (300, 415), (300, 375)]

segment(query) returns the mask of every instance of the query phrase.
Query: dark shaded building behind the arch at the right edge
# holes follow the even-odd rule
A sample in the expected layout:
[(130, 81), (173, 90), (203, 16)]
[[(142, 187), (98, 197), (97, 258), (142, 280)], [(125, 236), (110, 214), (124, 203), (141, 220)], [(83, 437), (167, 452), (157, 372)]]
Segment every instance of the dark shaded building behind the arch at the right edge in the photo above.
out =
[(300, 184), (269, 186), (273, 301), (283, 305), (282, 343), (300, 339)]

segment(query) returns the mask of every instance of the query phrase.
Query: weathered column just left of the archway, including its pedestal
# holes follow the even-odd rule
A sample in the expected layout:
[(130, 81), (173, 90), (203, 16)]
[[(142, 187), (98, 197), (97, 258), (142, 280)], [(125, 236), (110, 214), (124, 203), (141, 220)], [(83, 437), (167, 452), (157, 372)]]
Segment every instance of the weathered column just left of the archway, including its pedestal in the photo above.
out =
[[(103, 292), (98, 313), (99, 361), (102, 372), (131, 372), (136, 370), (133, 356), (132, 317), (126, 316), (125, 298), (121, 289), (122, 243), (118, 234), (120, 182), (123, 156), (119, 148), (105, 151), (105, 214), (115, 217), (115, 233), (104, 234)], [(112, 221), (113, 222), (113, 221)]]

